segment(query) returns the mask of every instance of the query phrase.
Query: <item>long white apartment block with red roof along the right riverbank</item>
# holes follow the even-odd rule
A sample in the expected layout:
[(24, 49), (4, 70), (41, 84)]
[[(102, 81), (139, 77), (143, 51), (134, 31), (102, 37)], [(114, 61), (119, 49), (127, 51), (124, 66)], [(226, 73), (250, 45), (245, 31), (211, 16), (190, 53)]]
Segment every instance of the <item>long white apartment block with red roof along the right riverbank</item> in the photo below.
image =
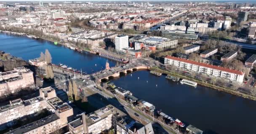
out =
[(189, 70), (192, 72), (197, 72), (199, 74), (207, 75), (210, 77), (221, 78), (230, 82), (243, 83), (244, 73), (231, 70), (224, 67), (214, 66), (211, 64), (205, 64), (200, 62), (195, 62), (192, 60), (166, 56), (165, 57), (166, 65), (173, 65), (179, 67), (183, 70)]

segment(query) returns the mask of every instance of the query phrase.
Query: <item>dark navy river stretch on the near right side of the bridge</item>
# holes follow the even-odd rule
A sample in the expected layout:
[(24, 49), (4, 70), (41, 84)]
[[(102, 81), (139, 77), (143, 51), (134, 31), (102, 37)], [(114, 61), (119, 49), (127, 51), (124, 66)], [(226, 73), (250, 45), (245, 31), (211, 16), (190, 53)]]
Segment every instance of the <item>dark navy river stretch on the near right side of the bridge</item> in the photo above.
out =
[[(138, 79), (139, 77), (139, 79)], [(148, 82), (147, 82), (148, 81)], [(148, 71), (112, 80), (169, 116), (217, 134), (256, 134), (256, 101), (197, 85), (181, 85)], [(214, 134), (214, 133), (211, 133)]]

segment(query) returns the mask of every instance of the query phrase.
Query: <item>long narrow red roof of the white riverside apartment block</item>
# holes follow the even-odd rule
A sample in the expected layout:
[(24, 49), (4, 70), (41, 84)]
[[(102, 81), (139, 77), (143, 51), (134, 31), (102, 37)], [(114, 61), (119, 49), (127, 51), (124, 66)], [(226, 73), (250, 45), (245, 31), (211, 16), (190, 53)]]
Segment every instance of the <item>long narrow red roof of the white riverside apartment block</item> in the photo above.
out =
[(221, 70), (221, 71), (224, 71), (224, 72), (230, 72), (230, 73), (237, 74), (237, 75), (243, 75), (243, 72), (241, 72), (241, 71), (231, 70), (231, 69), (225, 68), (225, 67), (213, 66), (211, 64), (195, 62), (195, 61), (192, 61), (192, 60), (182, 59), (182, 58), (173, 57), (173, 56), (166, 56), (165, 58), (178, 60), (180, 62), (186, 62), (186, 63), (189, 63), (189, 64), (195, 64), (195, 65), (202, 66), (202, 67), (208, 67), (208, 68), (212, 68), (212, 69), (215, 69), (215, 70)]

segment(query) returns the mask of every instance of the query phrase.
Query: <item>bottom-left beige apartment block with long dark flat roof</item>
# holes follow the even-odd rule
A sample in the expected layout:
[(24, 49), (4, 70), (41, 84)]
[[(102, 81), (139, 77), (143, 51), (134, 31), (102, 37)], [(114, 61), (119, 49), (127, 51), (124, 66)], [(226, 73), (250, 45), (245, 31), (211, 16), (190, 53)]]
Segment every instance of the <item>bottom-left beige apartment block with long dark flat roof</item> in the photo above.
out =
[(68, 117), (73, 115), (73, 108), (67, 103), (58, 106), (55, 113), (43, 119), (9, 131), (5, 134), (50, 134), (67, 126)]

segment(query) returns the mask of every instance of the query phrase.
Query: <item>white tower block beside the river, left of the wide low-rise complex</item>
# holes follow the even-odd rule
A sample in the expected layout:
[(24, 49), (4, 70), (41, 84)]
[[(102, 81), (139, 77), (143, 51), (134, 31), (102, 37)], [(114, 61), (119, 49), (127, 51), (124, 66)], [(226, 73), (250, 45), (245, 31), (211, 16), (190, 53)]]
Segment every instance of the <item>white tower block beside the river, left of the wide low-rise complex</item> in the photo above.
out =
[(129, 37), (127, 35), (118, 35), (115, 37), (115, 49), (117, 51), (123, 51), (123, 49), (128, 48)]

